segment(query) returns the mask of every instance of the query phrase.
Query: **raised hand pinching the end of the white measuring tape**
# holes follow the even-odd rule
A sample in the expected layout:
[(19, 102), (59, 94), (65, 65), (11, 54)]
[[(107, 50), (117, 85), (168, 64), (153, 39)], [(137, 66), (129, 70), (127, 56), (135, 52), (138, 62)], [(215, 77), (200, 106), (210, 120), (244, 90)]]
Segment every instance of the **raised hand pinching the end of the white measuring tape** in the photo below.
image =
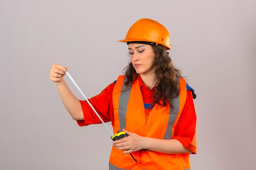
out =
[(67, 67), (63, 67), (60, 64), (53, 64), (50, 70), (50, 80), (53, 82), (61, 82), (62, 77), (65, 76)]

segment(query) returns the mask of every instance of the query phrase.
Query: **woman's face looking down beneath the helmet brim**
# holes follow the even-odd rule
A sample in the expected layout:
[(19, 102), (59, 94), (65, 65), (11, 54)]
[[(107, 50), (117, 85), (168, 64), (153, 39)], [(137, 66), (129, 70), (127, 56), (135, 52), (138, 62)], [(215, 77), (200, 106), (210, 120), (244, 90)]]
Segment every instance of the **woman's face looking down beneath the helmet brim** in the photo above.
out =
[(150, 75), (154, 73), (153, 64), (156, 54), (151, 45), (129, 44), (130, 60), (137, 74)]

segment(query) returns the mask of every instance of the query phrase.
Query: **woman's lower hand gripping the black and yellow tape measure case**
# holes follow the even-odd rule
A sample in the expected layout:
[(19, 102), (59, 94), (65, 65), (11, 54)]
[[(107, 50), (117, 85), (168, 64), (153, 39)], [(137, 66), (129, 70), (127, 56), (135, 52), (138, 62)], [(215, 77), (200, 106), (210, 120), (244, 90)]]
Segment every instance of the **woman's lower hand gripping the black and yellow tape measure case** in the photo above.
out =
[(123, 132), (126, 132), (129, 136), (113, 142), (117, 149), (123, 150), (124, 153), (131, 153), (144, 148), (143, 145), (145, 137), (129, 132), (125, 129), (123, 129)]

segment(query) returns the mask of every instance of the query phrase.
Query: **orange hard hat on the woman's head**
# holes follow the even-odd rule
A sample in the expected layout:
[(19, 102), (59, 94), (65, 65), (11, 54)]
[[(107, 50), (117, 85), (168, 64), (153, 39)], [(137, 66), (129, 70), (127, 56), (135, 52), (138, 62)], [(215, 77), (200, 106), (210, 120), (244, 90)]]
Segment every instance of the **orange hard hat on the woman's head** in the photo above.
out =
[(162, 44), (166, 47), (166, 50), (171, 49), (168, 30), (159, 22), (148, 18), (137, 20), (137, 22), (130, 27), (125, 39), (119, 40), (119, 42), (127, 42), (127, 44)]

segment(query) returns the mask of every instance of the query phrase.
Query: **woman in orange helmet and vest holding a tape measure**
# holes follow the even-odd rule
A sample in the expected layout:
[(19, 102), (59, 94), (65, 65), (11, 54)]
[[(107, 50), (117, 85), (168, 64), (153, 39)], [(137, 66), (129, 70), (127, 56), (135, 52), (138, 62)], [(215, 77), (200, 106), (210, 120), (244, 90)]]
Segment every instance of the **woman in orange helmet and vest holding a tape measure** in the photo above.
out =
[[(167, 29), (155, 20), (140, 19), (120, 42), (127, 42), (130, 53), (125, 75), (89, 99), (103, 121), (112, 122), (114, 134), (129, 135), (113, 142), (110, 170), (190, 169), (189, 155), (197, 149), (195, 94), (168, 56)], [(50, 79), (67, 111), (79, 126), (101, 123), (67, 87), (66, 70), (54, 64)]]

